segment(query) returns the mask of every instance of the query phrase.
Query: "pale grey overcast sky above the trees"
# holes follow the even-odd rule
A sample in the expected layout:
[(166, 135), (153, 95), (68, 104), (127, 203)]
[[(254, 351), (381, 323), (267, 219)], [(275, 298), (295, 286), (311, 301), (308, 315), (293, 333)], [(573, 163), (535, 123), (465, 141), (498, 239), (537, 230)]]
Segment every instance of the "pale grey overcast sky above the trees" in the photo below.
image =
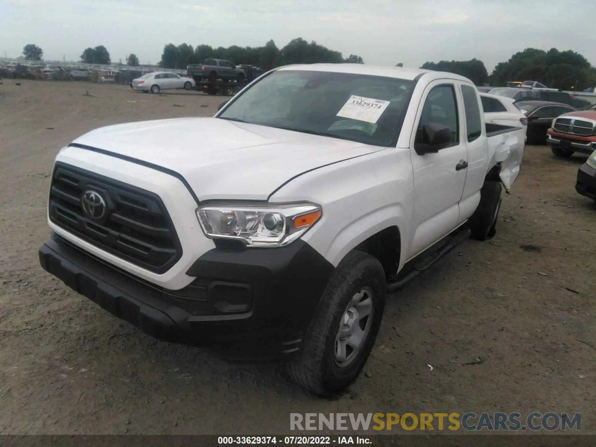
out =
[[(104, 45), (159, 62), (168, 43), (279, 48), (296, 37), (367, 64), (496, 63), (529, 46), (573, 49), (596, 65), (596, 0), (0, 0), (0, 52), (26, 44), (45, 60)], [(241, 63), (242, 61), (235, 61)]]

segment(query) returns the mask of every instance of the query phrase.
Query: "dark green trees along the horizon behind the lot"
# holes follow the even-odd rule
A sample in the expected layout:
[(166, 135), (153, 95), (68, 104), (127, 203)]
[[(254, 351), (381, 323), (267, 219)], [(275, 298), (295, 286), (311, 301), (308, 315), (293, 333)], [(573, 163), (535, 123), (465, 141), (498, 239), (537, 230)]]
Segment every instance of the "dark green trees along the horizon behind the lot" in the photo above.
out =
[[(26, 60), (42, 60), (44, 51), (37, 45), (29, 44), (23, 48)], [(205, 59), (225, 59), (235, 64), (249, 64), (270, 70), (287, 64), (313, 63), (358, 63), (364, 64), (362, 57), (350, 54), (344, 58), (342, 53), (334, 51), (316, 42), (308, 42), (303, 38), (290, 41), (283, 48), (278, 48), (274, 41), (264, 46), (238, 46), (225, 48), (210, 45), (167, 44), (163, 48), (159, 66), (167, 69), (186, 69), (188, 64), (200, 64)], [(86, 48), (80, 60), (88, 64), (110, 64), (110, 53), (105, 46)], [(126, 57), (126, 64), (138, 66), (139, 59), (135, 54)], [(396, 64), (403, 67), (403, 63)], [(472, 80), (476, 85), (505, 86), (513, 80), (536, 80), (558, 89), (584, 89), (596, 86), (596, 67), (578, 52), (570, 49), (559, 51), (551, 48), (548, 51), (526, 48), (512, 55), (506, 62), (498, 63), (488, 74), (485, 64), (474, 58), (469, 61), (425, 62), (421, 69), (457, 73)]]

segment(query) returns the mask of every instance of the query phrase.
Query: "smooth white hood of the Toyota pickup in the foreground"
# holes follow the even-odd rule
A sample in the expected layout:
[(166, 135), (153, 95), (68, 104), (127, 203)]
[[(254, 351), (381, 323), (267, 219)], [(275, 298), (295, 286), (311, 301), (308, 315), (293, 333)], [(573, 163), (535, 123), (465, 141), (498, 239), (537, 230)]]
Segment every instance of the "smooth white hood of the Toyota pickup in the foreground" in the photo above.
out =
[(178, 172), (198, 200), (267, 200), (276, 188), (304, 172), (383, 149), (218, 118), (108, 126), (73, 143)]

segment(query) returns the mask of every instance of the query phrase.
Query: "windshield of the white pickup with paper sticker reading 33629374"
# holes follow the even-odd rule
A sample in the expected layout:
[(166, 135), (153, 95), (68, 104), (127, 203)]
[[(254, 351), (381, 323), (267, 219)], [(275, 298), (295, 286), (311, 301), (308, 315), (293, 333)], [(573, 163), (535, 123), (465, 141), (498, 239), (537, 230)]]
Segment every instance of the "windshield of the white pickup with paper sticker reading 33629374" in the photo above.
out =
[(413, 84), (393, 77), (280, 70), (237, 97), (218, 117), (390, 146), (401, 129)]

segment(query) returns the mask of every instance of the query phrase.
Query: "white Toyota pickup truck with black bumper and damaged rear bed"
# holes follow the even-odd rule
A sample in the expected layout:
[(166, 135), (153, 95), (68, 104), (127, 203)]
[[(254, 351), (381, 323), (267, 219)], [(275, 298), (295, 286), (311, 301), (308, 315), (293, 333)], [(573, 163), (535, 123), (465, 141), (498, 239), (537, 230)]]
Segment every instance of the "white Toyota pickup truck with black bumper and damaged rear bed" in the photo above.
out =
[(97, 129), (56, 157), (41, 265), (151, 336), (337, 392), (387, 291), (495, 234), (525, 130), (481, 110), (451, 73), (315, 64), (212, 118)]

